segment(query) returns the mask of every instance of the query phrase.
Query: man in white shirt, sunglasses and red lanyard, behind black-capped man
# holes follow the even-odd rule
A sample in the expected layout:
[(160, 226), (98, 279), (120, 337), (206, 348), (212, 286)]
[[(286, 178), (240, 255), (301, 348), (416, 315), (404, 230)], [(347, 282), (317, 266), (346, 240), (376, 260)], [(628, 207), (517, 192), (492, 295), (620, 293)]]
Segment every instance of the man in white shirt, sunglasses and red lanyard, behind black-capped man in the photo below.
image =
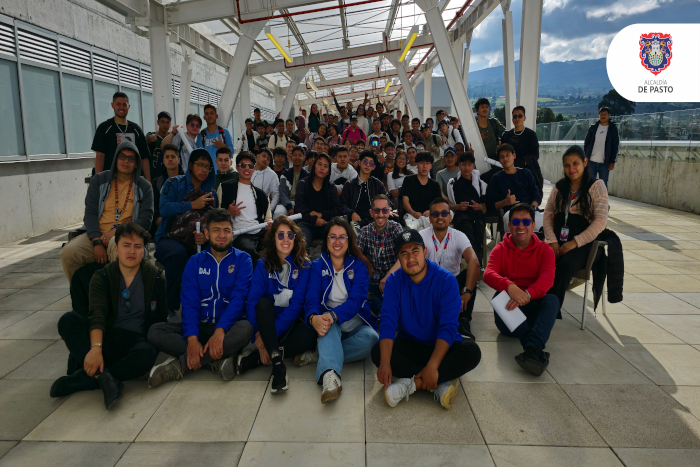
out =
[[(474, 339), (470, 322), (474, 301), (476, 300), (476, 281), (479, 280), (479, 259), (474, 253), (469, 238), (459, 230), (450, 227), (452, 213), (447, 200), (436, 198), (430, 203), (430, 227), (420, 231), (423, 242), (427, 245), (428, 259), (447, 269), (457, 278), (462, 309), (459, 314), (458, 332), (465, 339)], [(462, 258), (467, 262), (467, 269), (461, 271)]]

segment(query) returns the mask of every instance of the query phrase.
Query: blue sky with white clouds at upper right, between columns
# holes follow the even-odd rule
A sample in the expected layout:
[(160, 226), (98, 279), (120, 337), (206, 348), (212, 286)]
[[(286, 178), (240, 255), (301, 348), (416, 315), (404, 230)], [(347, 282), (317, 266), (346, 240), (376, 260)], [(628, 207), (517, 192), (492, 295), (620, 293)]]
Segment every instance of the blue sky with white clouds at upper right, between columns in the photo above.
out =
[[(515, 59), (520, 55), (523, 0), (513, 0)], [(636, 23), (685, 23), (700, 18), (699, 0), (544, 0), (540, 60), (558, 62), (606, 56), (615, 34)], [(475, 30), (470, 71), (503, 65), (501, 20), (497, 7)], [(436, 68), (433, 74), (442, 74)]]

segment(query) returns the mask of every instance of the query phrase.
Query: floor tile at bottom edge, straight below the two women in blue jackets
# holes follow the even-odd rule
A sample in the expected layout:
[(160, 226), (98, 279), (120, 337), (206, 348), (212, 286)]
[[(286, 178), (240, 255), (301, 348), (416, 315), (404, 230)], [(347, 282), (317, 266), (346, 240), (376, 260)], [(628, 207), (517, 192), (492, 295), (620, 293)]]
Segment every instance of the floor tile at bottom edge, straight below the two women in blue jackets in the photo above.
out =
[(321, 467), (338, 464), (365, 465), (363, 443), (246, 443), (238, 467), (303, 465)]

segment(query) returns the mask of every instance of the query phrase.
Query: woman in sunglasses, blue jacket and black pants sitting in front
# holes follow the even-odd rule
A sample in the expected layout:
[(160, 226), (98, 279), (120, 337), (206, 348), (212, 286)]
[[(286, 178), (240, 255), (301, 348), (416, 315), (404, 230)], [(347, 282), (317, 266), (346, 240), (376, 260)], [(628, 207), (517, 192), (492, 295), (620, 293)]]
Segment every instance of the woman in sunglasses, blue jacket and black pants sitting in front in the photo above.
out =
[(304, 326), (304, 301), (311, 260), (304, 235), (287, 216), (280, 216), (265, 234), (248, 292), (247, 317), (253, 325), (256, 350), (238, 357), (237, 373), (272, 365), (272, 389), (289, 389), (284, 354), (292, 357), (316, 347), (316, 332)]

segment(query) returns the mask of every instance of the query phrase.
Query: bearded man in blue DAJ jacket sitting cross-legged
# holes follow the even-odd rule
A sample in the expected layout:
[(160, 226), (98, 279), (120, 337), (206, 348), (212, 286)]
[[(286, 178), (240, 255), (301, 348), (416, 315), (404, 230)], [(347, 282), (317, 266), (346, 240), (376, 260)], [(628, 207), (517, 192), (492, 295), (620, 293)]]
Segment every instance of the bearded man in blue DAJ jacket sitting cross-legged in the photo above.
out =
[(243, 318), (253, 262), (231, 246), (233, 219), (225, 209), (212, 209), (206, 220), (209, 247), (190, 258), (182, 275), (182, 323), (160, 323), (148, 331), (148, 340), (171, 356), (151, 369), (149, 388), (207, 366), (232, 380), (238, 352), (253, 337)]

